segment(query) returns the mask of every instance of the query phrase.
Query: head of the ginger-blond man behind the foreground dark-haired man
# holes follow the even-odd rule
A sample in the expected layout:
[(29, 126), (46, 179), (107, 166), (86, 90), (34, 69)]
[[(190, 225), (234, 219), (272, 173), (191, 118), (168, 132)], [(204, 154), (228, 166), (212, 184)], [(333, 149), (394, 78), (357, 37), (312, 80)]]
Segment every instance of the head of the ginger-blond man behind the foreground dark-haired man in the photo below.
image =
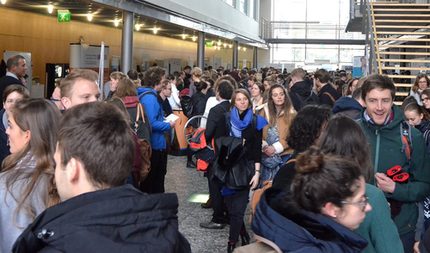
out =
[(97, 101), (100, 97), (98, 74), (89, 69), (74, 69), (61, 80), (61, 103), (66, 110), (73, 106)]

